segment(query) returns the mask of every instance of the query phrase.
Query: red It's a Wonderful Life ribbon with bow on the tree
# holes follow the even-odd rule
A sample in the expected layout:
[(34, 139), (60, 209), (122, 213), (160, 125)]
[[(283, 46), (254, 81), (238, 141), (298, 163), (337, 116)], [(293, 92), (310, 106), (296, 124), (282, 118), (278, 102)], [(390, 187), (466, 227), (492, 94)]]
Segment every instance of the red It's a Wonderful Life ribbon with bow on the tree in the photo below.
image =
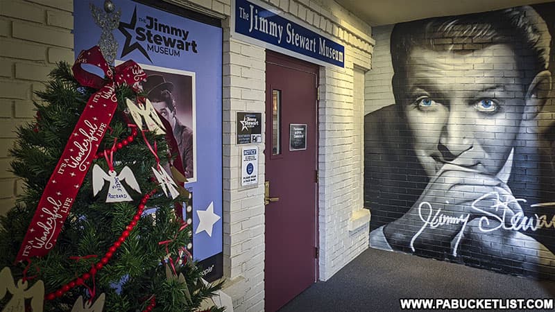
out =
[[(99, 67), (107, 79), (85, 71), (82, 64)], [(42, 257), (56, 245), (62, 225), (117, 108), (115, 88), (127, 84), (138, 92), (139, 83), (146, 79), (146, 73), (131, 60), (120, 64), (115, 73), (112, 72), (98, 46), (81, 51), (72, 70), (81, 85), (99, 91), (89, 98), (69, 136), (62, 157), (44, 188), (16, 261)]]

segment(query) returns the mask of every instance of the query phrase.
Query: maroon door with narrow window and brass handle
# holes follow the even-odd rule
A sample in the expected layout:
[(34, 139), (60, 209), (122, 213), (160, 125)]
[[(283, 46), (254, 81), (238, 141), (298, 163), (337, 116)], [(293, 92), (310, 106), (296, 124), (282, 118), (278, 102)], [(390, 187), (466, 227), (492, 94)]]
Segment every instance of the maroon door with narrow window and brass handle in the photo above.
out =
[(264, 288), (270, 312), (316, 281), (317, 85), (318, 66), (266, 53)]

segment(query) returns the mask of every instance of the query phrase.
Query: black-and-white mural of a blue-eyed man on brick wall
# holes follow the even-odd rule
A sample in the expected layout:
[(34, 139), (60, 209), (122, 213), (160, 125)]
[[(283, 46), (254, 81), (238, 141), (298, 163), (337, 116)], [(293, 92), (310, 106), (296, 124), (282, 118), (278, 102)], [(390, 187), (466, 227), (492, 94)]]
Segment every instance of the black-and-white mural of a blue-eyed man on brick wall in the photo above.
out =
[(393, 26), (394, 103), (364, 120), (371, 247), (555, 279), (553, 15)]

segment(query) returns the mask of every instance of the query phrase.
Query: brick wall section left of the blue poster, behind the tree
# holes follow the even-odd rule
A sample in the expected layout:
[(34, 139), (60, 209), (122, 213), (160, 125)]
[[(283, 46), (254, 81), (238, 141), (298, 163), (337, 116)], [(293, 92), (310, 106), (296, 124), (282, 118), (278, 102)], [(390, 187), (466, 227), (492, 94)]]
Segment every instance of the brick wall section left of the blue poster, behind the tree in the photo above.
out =
[(22, 183), (8, 172), (15, 128), (32, 122), (33, 92), (60, 60), (73, 61), (73, 1), (0, 1), (0, 215), (15, 204)]

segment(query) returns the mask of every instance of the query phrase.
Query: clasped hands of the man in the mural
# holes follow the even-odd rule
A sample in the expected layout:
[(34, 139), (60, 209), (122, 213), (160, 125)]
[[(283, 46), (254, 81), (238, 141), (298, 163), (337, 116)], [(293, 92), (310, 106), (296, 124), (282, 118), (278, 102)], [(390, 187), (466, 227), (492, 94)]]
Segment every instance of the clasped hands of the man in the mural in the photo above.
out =
[(470, 223), (478, 220), (482, 228), (493, 229), (503, 222), (509, 228), (515, 214), (522, 208), (502, 180), (449, 163), (404, 216), (384, 227), (384, 236), (394, 249), (417, 252), (441, 245), (441, 252), (456, 256)]

